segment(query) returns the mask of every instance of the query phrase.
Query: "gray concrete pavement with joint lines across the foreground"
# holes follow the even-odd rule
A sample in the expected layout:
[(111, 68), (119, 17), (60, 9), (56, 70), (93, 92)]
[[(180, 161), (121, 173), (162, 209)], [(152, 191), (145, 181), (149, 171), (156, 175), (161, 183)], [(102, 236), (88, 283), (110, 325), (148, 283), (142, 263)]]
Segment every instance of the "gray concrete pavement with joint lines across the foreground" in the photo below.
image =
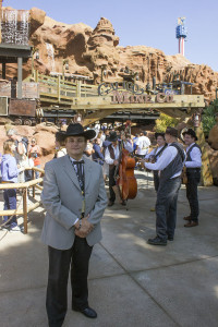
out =
[[(89, 304), (98, 318), (70, 310), (63, 327), (217, 327), (218, 187), (199, 187), (199, 226), (185, 229), (185, 190), (178, 202), (173, 242), (152, 246), (156, 194), (152, 175), (137, 172), (137, 197), (102, 219), (104, 239), (89, 267)], [(0, 326), (46, 327), (47, 247), (44, 209), (29, 214), (28, 234), (0, 231)], [(19, 218), (22, 223), (22, 218)]]

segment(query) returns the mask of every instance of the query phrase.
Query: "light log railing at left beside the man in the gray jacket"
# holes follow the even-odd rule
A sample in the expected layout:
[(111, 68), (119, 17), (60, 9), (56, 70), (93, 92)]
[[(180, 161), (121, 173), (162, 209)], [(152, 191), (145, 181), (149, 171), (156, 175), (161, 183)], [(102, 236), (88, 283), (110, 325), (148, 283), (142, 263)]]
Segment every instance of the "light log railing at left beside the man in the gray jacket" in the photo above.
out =
[(14, 209), (14, 210), (0, 210), (0, 216), (14, 216), (14, 215), (21, 215), (24, 218), (24, 234), (27, 233), (27, 215), (28, 213), (35, 210), (41, 205), (41, 202), (38, 201), (32, 205), (28, 206), (28, 192), (27, 190), (29, 187), (33, 189), (33, 197), (35, 198), (35, 189), (38, 189), (43, 191), (43, 186), (38, 185), (38, 183), (41, 183), (44, 181), (43, 178), (35, 179), (35, 171), (39, 171), (44, 174), (44, 170), (37, 167), (33, 168), (25, 168), (25, 170), (32, 170), (33, 171), (33, 180), (25, 183), (3, 183), (0, 184), (0, 190), (9, 190), (9, 189), (22, 189), (22, 197), (23, 197), (23, 208), (22, 209)]

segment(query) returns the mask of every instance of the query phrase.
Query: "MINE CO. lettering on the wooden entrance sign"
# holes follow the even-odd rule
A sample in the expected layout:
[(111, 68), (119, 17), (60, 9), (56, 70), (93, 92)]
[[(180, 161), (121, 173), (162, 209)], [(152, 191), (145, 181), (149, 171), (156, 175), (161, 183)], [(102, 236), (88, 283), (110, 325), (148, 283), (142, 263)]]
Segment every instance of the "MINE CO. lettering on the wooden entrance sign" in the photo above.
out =
[(171, 104), (173, 102), (173, 95), (166, 95), (158, 93), (156, 96), (149, 94), (133, 95), (129, 92), (113, 90), (111, 104)]

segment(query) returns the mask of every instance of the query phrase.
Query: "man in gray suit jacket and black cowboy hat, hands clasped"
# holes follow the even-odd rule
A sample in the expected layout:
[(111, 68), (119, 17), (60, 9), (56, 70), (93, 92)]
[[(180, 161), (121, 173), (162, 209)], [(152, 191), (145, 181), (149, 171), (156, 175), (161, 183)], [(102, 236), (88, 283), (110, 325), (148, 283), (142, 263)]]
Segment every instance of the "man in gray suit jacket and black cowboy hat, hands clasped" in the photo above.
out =
[(41, 240), (48, 245), (47, 314), (49, 327), (63, 324), (71, 267), (72, 310), (96, 318), (88, 305), (87, 275), (93, 246), (101, 239), (100, 219), (107, 206), (101, 167), (83, 156), (95, 131), (78, 123), (65, 132), (68, 155), (45, 167), (41, 201), (47, 210)]

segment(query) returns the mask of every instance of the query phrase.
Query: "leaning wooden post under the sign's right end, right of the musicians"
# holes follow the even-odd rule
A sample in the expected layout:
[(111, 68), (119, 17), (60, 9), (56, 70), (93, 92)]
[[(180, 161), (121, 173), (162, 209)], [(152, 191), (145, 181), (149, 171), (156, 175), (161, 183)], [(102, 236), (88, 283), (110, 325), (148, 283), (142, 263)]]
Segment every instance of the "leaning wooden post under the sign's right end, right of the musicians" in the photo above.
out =
[(195, 128), (197, 135), (197, 144), (202, 149), (202, 182), (204, 186), (211, 186), (214, 184), (211, 169), (209, 166), (209, 158), (206, 148), (206, 142), (203, 131), (203, 124), (201, 122), (198, 128)]

